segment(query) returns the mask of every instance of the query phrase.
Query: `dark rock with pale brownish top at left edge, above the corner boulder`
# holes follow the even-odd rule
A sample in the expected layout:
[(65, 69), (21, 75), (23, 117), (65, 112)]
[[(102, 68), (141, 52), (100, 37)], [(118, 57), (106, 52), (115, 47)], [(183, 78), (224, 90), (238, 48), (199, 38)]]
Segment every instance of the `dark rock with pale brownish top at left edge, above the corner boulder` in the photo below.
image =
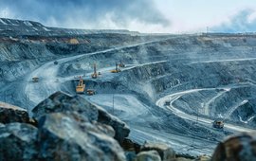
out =
[(29, 116), (25, 109), (17, 106), (10, 105), (8, 103), (0, 102), (0, 122), (10, 123), (10, 122), (24, 122), (29, 121)]

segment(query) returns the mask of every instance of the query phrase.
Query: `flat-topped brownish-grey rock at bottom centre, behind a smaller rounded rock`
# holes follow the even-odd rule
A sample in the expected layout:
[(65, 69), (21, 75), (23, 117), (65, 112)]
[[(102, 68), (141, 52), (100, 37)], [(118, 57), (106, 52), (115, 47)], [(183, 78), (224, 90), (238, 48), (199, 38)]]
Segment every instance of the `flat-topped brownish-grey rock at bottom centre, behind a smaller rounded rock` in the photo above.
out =
[(156, 151), (159, 153), (162, 160), (172, 160), (175, 158), (174, 150), (163, 143), (145, 143), (141, 147), (141, 152), (144, 151)]

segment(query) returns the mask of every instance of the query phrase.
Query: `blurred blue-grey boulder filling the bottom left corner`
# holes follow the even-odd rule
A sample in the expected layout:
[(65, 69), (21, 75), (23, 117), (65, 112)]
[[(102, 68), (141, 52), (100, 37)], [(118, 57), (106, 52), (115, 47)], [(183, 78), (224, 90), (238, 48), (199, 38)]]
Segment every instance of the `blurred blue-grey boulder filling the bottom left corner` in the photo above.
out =
[(0, 127), (0, 160), (37, 160), (37, 132), (25, 123)]

